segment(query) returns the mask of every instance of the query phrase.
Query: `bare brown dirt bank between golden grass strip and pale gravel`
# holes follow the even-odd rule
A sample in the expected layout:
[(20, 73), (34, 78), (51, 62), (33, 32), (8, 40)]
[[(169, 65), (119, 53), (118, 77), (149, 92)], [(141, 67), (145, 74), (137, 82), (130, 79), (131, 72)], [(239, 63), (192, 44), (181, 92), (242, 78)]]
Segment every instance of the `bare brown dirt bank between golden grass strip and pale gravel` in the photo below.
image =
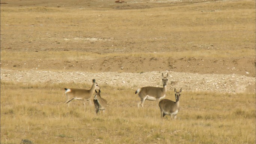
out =
[(198, 74), (240, 74), (255, 77), (255, 58), (131, 58), (116, 56), (97, 60), (2, 60), (1, 68), (129, 73), (168, 70)]

